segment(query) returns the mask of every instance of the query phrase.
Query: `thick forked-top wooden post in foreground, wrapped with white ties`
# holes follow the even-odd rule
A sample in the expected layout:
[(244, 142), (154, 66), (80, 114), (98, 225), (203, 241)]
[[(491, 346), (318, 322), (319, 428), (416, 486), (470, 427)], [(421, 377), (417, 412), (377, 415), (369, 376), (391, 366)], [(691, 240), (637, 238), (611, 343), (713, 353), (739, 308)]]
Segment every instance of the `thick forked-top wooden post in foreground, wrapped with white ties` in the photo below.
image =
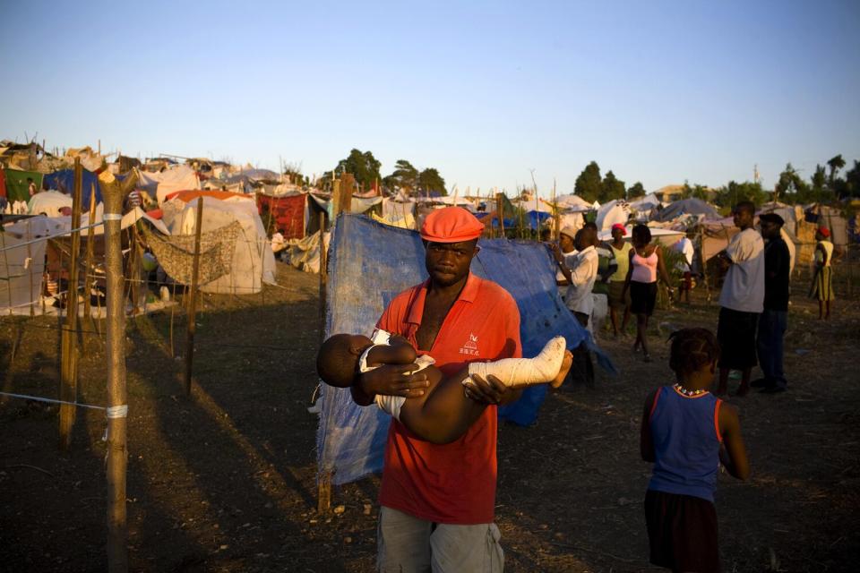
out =
[(125, 515), (127, 394), (125, 389), (125, 276), (123, 274), (123, 191), (104, 185), (105, 270), (107, 275), (107, 570), (128, 570)]

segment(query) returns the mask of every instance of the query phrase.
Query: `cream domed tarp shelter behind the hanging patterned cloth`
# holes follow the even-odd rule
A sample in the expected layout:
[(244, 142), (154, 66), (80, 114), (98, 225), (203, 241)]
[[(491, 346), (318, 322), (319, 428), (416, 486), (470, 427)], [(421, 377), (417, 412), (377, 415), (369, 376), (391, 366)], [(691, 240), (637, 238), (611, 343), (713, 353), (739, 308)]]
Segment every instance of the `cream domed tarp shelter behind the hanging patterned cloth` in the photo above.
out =
[(230, 272), (202, 285), (206, 293), (251, 295), (262, 283), (275, 284), (275, 255), (266, 237), (254, 198), (228, 192), (179, 192), (161, 207), (170, 235), (193, 235), (197, 218), (197, 198), (203, 199), (202, 232), (241, 226), (236, 235)]

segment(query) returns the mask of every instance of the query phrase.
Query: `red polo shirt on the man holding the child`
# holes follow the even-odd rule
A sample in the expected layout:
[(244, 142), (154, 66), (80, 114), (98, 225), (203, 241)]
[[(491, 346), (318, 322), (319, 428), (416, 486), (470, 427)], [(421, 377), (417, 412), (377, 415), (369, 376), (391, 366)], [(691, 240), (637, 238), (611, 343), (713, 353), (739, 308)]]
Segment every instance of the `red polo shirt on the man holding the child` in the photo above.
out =
[[(417, 348), (415, 333), (428, 285), (429, 281), (397, 295), (377, 327), (408, 338)], [(501, 286), (469, 274), (433, 348), (417, 350), (433, 356), (446, 376), (469, 362), (520, 357), (520, 311)], [(436, 523), (492, 523), (496, 432), (495, 406), (488, 406), (460, 440), (444, 445), (420, 440), (391, 420), (380, 503)]]

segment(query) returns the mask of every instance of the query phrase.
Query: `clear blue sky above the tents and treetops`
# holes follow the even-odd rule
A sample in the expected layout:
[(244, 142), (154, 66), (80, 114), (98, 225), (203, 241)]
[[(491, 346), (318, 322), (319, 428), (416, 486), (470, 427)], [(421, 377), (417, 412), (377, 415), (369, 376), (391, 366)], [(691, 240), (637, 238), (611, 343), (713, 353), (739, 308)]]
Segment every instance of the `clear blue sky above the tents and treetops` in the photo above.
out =
[(4, 2), (0, 139), (460, 190), (775, 183), (860, 159), (860, 3)]

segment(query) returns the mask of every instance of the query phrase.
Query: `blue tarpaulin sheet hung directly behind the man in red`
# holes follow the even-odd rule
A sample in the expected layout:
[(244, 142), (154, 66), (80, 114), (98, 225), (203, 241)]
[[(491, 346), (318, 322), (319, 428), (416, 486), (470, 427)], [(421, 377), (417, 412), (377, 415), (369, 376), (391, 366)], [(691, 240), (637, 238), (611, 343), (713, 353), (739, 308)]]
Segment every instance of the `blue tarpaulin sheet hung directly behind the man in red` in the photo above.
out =
[[(479, 246), (471, 270), (494, 280), (516, 300), (524, 356), (538, 355), (556, 335), (566, 338), (570, 348), (586, 340), (594, 349), (588, 332), (558, 295), (555, 264), (546, 246), (506, 239), (481, 240)], [(340, 215), (330, 245), (326, 337), (339, 332), (369, 335), (395, 295), (426, 280), (424, 258), (417, 232)], [(607, 365), (605, 358), (598, 359)], [(376, 406), (357, 406), (348, 389), (322, 387), (318, 471), (332, 472), (332, 483), (340, 484), (382, 470), (390, 416)], [(500, 408), (500, 416), (521, 425), (533, 423), (546, 390), (546, 384), (527, 389), (518, 402)]]

